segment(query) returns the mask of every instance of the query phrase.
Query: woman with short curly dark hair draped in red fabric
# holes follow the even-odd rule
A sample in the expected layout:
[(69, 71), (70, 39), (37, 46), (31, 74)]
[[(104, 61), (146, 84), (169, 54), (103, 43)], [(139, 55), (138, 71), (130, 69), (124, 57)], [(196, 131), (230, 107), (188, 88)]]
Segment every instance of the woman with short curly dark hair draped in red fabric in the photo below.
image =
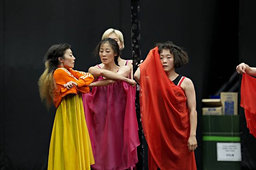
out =
[(149, 170), (196, 170), (195, 89), (189, 78), (175, 72), (186, 63), (184, 50), (160, 43), (135, 72)]

